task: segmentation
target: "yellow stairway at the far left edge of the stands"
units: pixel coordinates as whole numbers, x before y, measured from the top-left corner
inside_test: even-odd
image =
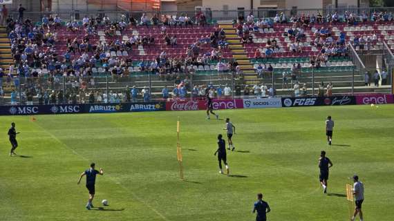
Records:
[[[11,64],[14,64],[14,59],[12,59],[10,39],[6,27],[0,26],[0,67],[8,73]]]

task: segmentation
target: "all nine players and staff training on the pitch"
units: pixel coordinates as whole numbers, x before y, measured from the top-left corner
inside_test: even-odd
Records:
[[[209,113],[212,113],[216,116],[216,119],[218,119],[218,115],[216,115],[213,112],[213,106],[212,106],[212,99],[210,99],[207,96],[207,118],[209,119]],[[232,142],[232,136],[235,134],[235,126],[232,124],[232,122],[229,121],[229,118],[226,118],[225,120],[226,126],[223,130],[227,131],[227,141],[228,141],[228,148],[227,150],[235,150],[235,146]],[[331,116],[327,117],[326,120],[326,136],[327,136],[327,142],[328,145],[332,144],[332,131],[334,128],[334,121],[331,119]],[[16,131],[15,128],[15,123],[12,122],[11,128],[8,130],[8,136],[10,139],[11,143],[11,150],[10,150],[10,156],[17,155],[15,153],[15,149],[18,146],[17,142],[17,134],[19,132]],[[219,173],[223,174],[223,167],[222,167],[222,161],[225,164],[225,168],[227,170],[227,175],[229,174],[229,165],[227,164],[227,153],[226,153],[226,144],[225,140],[223,140],[223,135],[219,134],[218,135],[218,148],[215,151],[214,155],[218,155],[218,164],[219,164]],[[326,157],[326,151],[321,151],[321,155],[319,157],[319,169],[320,169],[320,175],[319,175],[319,180],[320,184],[323,188],[323,193],[327,193],[327,186],[328,186],[328,174],[329,174],[329,169],[332,166],[331,160]],[[88,203],[86,204],[86,209],[91,209],[93,208],[93,198],[95,195],[95,179],[96,175],[103,175],[104,171],[103,169],[100,168],[100,171],[95,170],[95,164],[92,163],[90,169],[87,169],[84,171],[80,176],[77,184],[81,181],[82,177],[86,176],[86,189],[88,189],[89,192],[89,198],[88,198]],[[364,185],[362,182],[359,181],[359,177],[357,175],[353,176],[353,181],[354,181],[354,188],[353,188],[353,194],[355,195],[355,211],[353,213],[353,218],[351,218],[351,221],[355,220],[355,217],[357,214],[359,214],[359,218],[361,221],[363,221],[363,213],[362,213],[362,202],[364,201]],[[263,201],[263,194],[259,193],[257,195],[257,202],[254,203],[254,209],[253,213],[257,212],[256,214],[256,221],[265,221],[267,220],[266,213],[270,212],[270,206],[268,205],[267,202]]]

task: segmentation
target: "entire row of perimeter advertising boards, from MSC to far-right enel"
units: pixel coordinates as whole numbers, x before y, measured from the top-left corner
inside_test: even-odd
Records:
[[[296,106],[344,106],[362,104],[394,104],[394,95],[357,95],[335,97],[274,97],[261,99],[214,99],[213,108],[290,108]],[[0,115],[42,115],[76,113],[127,113],[144,111],[206,110],[205,100],[169,102],[136,102],[118,104],[48,104],[0,106]]]

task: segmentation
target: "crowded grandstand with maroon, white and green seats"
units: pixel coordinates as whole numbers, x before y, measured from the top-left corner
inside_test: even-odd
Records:
[[[3,104],[128,102],[131,88],[140,100],[163,99],[163,88],[168,98],[203,96],[207,86],[232,97],[392,91],[392,10],[167,12],[149,3],[70,13],[59,2],[54,12],[21,5],[3,15]]]

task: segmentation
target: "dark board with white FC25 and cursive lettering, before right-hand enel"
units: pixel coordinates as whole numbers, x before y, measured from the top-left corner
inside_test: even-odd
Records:
[[[354,96],[335,97],[282,97],[283,107],[292,106],[341,106],[355,105]]]

